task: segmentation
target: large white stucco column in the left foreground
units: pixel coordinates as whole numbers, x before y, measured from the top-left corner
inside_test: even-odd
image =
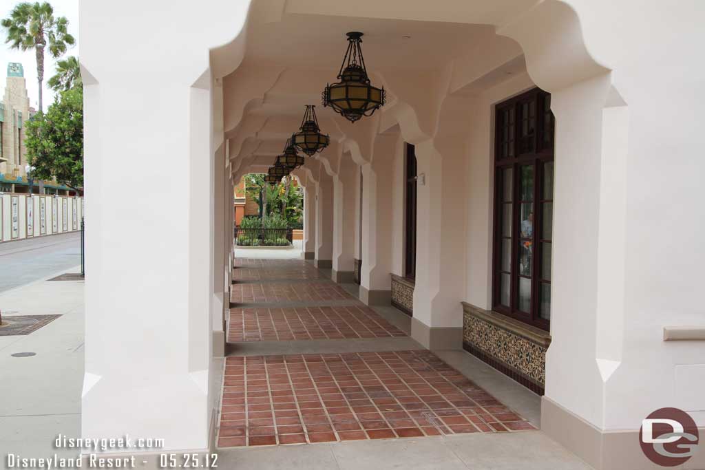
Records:
[[[208,48],[239,32],[247,5],[200,7],[80,4],[91,194],[81,433],[164,439],[161,452],[206,450],[214,416]],[[183,35],[193,24],[212,28]],[[126,156],[148,163],[125,178]]]

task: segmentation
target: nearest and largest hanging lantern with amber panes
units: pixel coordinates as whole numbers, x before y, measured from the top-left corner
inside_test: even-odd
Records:
[[[362,32],[348,32],[348,50],[345,51],[338,83],[326,85],[323,106],[331,106],[336,113],[355,122],[362,116],[372,116],[386,101],[384,88],[369,84],[367,69],[362,58]]]

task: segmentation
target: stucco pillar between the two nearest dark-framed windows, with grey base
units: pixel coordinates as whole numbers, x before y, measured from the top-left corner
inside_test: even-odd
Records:
[[[412,337],[429,349],[462,347],[465,290],[465,147],[416,145],[417,245]],[[443,146],[443,154],[437,147]]]

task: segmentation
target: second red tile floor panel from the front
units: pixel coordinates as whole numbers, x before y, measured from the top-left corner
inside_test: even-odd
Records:
[[[406,336],[368,307],[230,309],[228,342]]]

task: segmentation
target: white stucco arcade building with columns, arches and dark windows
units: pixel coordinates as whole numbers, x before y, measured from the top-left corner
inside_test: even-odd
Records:
[[[146,11],[157,30],[127,39],[136,3],[80,8],[87,204],[119,218],[86,241],[85,437],[211,445],[229,198],[319,103],[349,30],[387,103],[354,124],[319,113],[331,145],[295,171],[306,258],[404,307],[424,347],[540,394],[542,431],[598,469],[658,468],[636,444],[655,409],[705,426],[699,5],[210,0]],[[134,149],[154,164],[125,182]],[[188,188],[144,184],[164,168]],[[125,197],[175,204],[125,214]],[[168,237],[114,236],[133,221]],[[135,324],[160,334],[125,345]]]

